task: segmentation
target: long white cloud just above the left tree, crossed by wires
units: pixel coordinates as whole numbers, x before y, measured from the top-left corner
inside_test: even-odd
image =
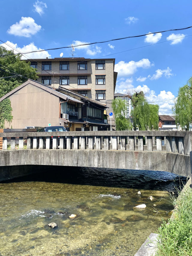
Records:
[[[8,46],[8,45],[10,46]],[[30,43],[28,45],[24,45],[22,48],[18,47],[17,44],[13,44],[10,41],[7,41],[6,44],[0,44],[1,46],[4,46],[7,50],[13,50],[14,53],[18,53],[19,52],[30,52],[30,51],[36,51],[36,50],[42,50],[41,48],[38,48],[37,46],[34,45],[34,43]],[[15,48],[15,49],[13,49]],[[21,59],[44,59],[44,58],[50,58],[51,55],[47,52],[47,51],[42,51],[42,52],[35,52],[35,53],[27,53],[27,56],[23,56],[21,57]]]

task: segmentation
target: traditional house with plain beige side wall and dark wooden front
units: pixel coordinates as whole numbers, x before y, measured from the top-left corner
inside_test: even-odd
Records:
[[[9,97],[12,122],[6,128],[65,126],[69,131],[108,130],[106,105],[64,88],[28,80],[0,98]]]

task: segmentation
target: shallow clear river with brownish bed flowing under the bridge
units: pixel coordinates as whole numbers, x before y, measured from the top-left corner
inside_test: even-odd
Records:
[[[53,167],[1,183],[0,255],[132,256],[170,217],[180,182],[167,172]]]

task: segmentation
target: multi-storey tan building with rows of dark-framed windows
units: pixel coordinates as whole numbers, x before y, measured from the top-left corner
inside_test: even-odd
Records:
[[[54,58],[26,61],[30,61],[31,66],[37,69],[38,82],[54,88],[62,86],[96,99],[106,104],[107,115],[112,111],[111,102],[117,79],[115,59]]]

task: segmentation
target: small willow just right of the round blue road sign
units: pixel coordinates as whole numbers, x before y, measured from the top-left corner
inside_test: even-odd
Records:
[[[112,101],[112,108],[115,115],[116,130],[125,131],[131,130],[132,124],[129,119],[125,118],[127,111],[127,101],[117,97]]]

